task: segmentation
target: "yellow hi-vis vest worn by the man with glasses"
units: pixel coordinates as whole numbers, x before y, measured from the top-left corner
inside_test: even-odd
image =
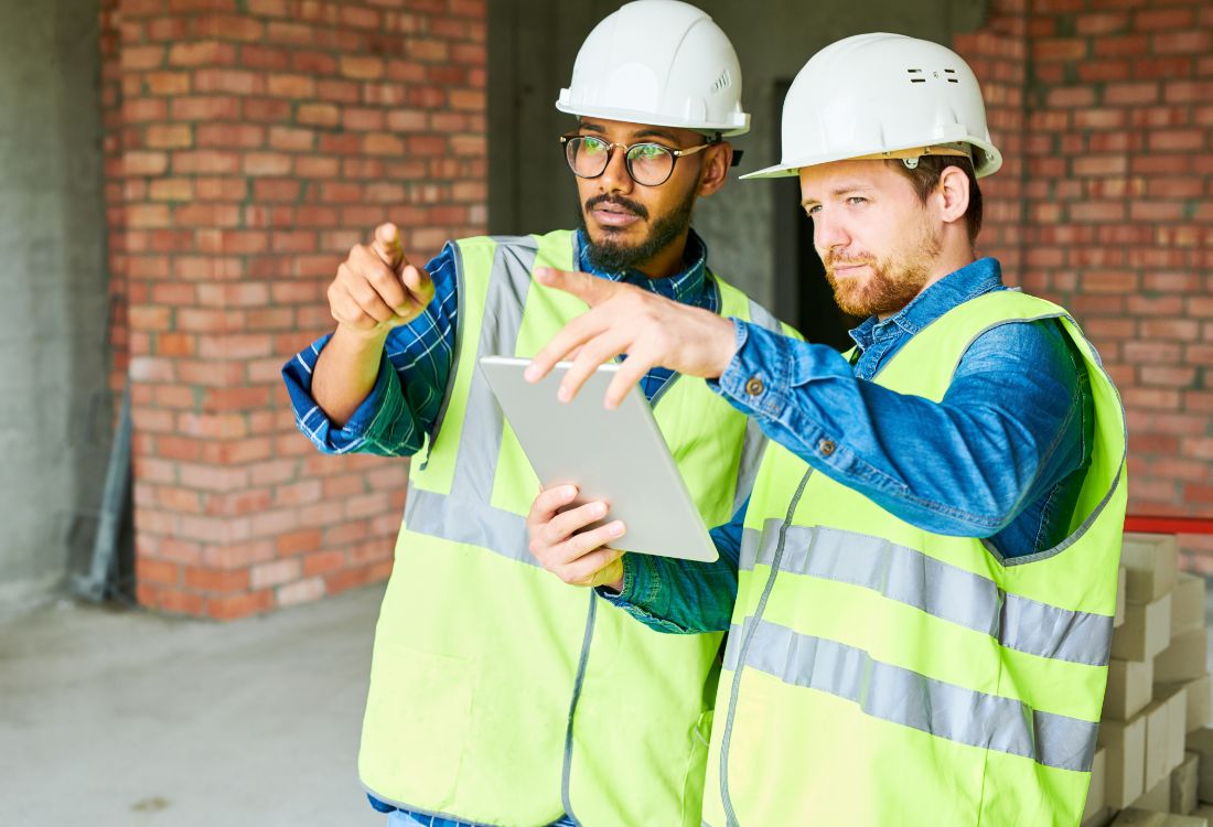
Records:
[[[588,827],[699,827],[722,635],[650,631],[537,565],[524,518],[539,480],[478,370],[482,355],[534,355],[585,313],[531,276],[575,269],[573,234],[468,239],[456,262],[455,367],[428,457],[410,469],[363,785],[474,823],[539,827],[568,812]],[[714,285],[722,315],[776,325]],[[761,430],[693,377],[654,405],[704,520],[728,521],[751,489]]]

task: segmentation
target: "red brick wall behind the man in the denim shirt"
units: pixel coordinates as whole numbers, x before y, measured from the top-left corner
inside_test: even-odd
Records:
[[[996,99],[1018,32],[1023,212],[990,229],[1019,234],[1019,281],[1077,315],[1120,386],[1129,512],[1213,517],[1213,6],[998,2],[956,44]],[[1180,540],[1213,574],[1213,537]]]

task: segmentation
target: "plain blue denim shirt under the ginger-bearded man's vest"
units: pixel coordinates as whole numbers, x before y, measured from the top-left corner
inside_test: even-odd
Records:
[[[1043,551],[1065,536],[1094,433],[1089,380],[1058,323],[1008,323],[979,336],[939,403],[871,381],[949,309],[1004,289],[998,262],[979,259],[853,330],[854,364],[734,320],[738,352],[708,384],[818,472],[912,525],[989,537],[1004,558]],[[750,395],[754,377],[765,389]],[[826,439],[828,455],[818,447]],[[746,506],[712,530],[716,563],[627,554],[622,592],[603,595],[665,632],[728,629]]]

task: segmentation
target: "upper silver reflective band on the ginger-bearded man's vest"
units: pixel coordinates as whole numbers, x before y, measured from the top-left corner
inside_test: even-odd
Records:
[[[754,529],[745,530],[744,570],[756,561],[771,564],[781,525],[767,520],[761,538]],[[991,580],[881,537],[793,525],[779,569],[872,589],[1029,655],[1106,666],[1111,652],[1111,617],[1008,594]]]

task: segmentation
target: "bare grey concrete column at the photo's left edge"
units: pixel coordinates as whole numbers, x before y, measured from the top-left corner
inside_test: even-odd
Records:
[[[110,439],[97,2],[0,0],[0,608],[89,547]]]

